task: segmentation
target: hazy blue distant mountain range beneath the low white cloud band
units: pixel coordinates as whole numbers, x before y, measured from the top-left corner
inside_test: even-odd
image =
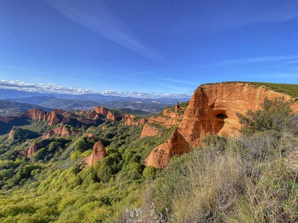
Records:
[[[46,94],[11,89],[0,89],[0,99],[15,103],[25,103],[24,108],[28,104],[30,106],[35,105],[49,109],[57,108],[63,110],[88,110],[96,106],[104,106],[109,109],[142,110],[149,113],[162,111],[164,107],[175,105],[177,102],[189,101],[189,98],[144,99],[101,94]],[[22,106],[18,105],[16,108],[20,107]],[[19,112],[23,111],[23,109],[20,109]]]

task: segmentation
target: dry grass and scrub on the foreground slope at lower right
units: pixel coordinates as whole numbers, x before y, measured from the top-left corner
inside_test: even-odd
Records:
[[[138,216],[122,222],[297,222],[297,173],[282,156],[294,146],[285,143],[289,137],[215,138],[221,142],[172,159],[146,190]]]

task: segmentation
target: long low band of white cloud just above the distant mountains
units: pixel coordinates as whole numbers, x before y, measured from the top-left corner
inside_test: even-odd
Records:
[[[29,92],[39,93],[59,93],[59,94],[101,94],[106,96],[121,96],[121,97],[134,97],[134,98],[191,98],[191,94],[162,94],[162,93],[141,93],[141,92],[119,92],[116,90],[102,90],[93,91],[89,89],[81,89],[74,87],[65,87],[56,84],[34,84],[24,81],[6,81],[0,80],[0,88],[2,89],[15,89]]]

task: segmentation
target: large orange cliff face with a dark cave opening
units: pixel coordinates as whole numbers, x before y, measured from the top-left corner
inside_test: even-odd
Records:
[[[260,109],[265,98],[291,97],[249,84],[202,85],[196,89],[184,112],[179,132],[187,142],[196,145],[205,134],[239,134],[241,126],[236,112]],[[297,103],[296,103],[297,104]],[[293,109],[296,110],[297,105]]]

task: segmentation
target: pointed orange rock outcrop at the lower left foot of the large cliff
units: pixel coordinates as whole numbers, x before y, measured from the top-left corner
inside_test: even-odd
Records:
[[[150,155],[145,159],[146,166],[153,166],[157,168],[165,168],[174,155],[182,155],[190,152],[190,147],[183,136],[174,130],[170,138],[160,145],[158,145]]]

